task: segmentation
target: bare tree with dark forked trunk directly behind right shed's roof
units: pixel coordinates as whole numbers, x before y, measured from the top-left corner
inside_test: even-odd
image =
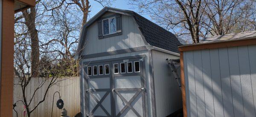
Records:
[[[149,14],[160,26],[178,29],[177,36],[190,34],[199,43],[200,23],[204,9],[201,0],[131,0],[141,13]]]

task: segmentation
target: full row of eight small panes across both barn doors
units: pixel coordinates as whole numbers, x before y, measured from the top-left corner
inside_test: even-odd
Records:
[[[114,74],[118,74],[119,73],[119,64],[114,63],[113,68],[114,68]],[[127,68],[127,73],[132,73],[133,72],[132,62],[127,62],[126,67],[125,67],[125,63],[120,63],[120,73],[121,74],[126,72],[125,71],[126,68]],[[99,71],[99,75],[103,75],[103,65],[93,66],[93,69],[92,69],[92,66],[88,66],[87,67],[87,75],[91,76],[92,71],[93,71],[93,75],[98,75],[98,71]],[[105,71],[105,75],[109,74],[109,65],[108,64],[104,65],[104,71]],[[134,72],[140,72],[140,61],[134,62]]]

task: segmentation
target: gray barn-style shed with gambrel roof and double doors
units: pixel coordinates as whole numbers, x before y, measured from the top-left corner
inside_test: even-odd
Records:
[[[78,46],[83,116],[166,117],[182,108],[166,63],[179,58],[178,45],[174,34],[134,11],[99,11]]]

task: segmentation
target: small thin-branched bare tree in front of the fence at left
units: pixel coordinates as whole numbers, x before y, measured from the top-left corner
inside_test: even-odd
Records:
[[[55,85],[58,82],[58,78],[62,77],[67,70],[63,66],[65,64],[58,64],[61,62],[59,55],[56,54],[41,54],[41,60],[38,62],[38,68],[34,71],[40,71],[40,77],[35,77],[29,73],[31,66],[31,53],[32,50],[29,49],[30,40],[27,40],[28,35],[16,35],[15,36],[15,59],[14,59],[14,71],[15,77],[18,79],[18,83],[14,85],[19,85],[22,91],[22,101],[23,105],[26,108],[26,113],[28,117],[30,114],[46,99],[49,88]],[[33,78],[40,79],[38,80],[38,85],[35,87],[35,90],[32,91],[32,94],[26,94],[26,91],[29,90],[28,87],[31,84]],[[46,82],[48,82],[46,84]],[[34,85],[34,84],[33,84]],[[35,105],[31,105],[35,94],[39,91],[42,86],[46,86],[46,90],[43,92],[43,97],[37,99],[38,102]],[[16,103],[16,102],[15,102]]]

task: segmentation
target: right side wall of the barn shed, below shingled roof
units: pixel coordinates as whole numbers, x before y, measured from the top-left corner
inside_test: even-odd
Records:
[[[181,90],[166,58],[177,59],[179,57],[152,51],[157,117],[166,117],[182,108]]]

